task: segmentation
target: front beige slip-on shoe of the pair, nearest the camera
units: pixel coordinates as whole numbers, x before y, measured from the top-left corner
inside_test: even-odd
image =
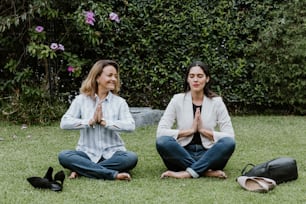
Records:
[[[239,176],[237,178],[239,185],[247,191],[266,193],[269,191],[269,187],[265,182],[254,179],[248,176]]]

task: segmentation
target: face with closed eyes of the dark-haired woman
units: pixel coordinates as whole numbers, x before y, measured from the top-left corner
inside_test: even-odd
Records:
[[[203,89],[208,81],[209,77],[206,76],[204,70],[200,66],[190,68],[187,82],[192,92],[203,92]]]

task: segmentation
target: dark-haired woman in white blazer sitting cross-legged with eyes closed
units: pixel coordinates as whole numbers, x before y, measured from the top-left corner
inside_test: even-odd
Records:
[[[210,77],[207,65],[193,62],[185,93],[173,96],[159,121],[156,149],[168,168],[161,178],[227,178],[235,135],[222,98],[209,89]]]

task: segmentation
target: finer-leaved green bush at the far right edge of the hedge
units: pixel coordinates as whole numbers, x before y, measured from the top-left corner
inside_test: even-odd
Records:
[[[290,1],[272,12],[252,45],[253,76],[265,89],[267,104],[306,113],[306,2]]]

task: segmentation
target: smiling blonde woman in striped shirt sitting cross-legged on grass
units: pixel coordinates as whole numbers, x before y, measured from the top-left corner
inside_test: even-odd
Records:
[[[126,101],[119,97],[119,66],[99,60],[91,68],[60,123],[62,129],[80,130],[76,150],[59,153],[60,164],[78,175],[96,179],[131,180],[128,173],[138,161],[127,151],[119,132],[135,130]]]

